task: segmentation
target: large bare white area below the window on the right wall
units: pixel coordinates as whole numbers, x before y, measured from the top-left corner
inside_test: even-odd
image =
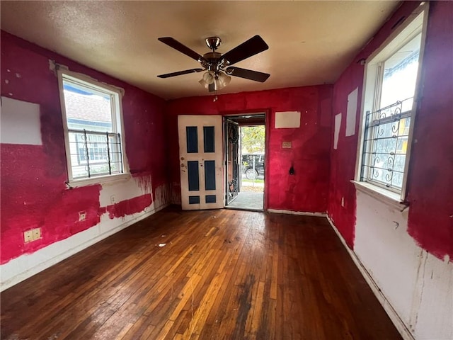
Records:
[[[414,339],[453,339],[452,263],[415,243],[409,209],[357,191],[355,254]]]

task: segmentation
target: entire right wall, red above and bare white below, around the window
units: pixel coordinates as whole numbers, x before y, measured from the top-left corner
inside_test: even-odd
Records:
[[[347,112],[358,88],[361,103],[366,60],[420,1],[404,1],[340,76],[333,115]],[[453,339],[453,3],[430,1],[408,172],[408,208],[399,211],[356,191],[358,124],[340,125],[331,149],[328,217],[404,339]],[[401,209],[400,209],[401,210]]]

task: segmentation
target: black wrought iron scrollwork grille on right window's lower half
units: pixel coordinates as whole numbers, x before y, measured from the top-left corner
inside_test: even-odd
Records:
[[[360,180],[400,192],[403,185],[413,97],[365,115]]]

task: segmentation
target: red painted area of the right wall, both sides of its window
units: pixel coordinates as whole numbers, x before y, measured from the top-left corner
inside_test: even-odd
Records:
[[[418,1],[404,2],[365,46],[333,87],[333,115],[343,113],[338,149],[331,153],[328,215],[348,246],[354,246],[357,133],[345,137],[348,94],[357,86],[361,103],[366,59],[391,34],[401,17],[408,16]],[[408,174],[408,232],[416,242],[437,257],[453,259],[453,3],[430,2],[428,32],[423,59],[420,107],[415,119],[413,149]],[[360,108],[357,108],[356,132]],[[333,133],[333,132],[332,132]],[[341,206],[344,197],[345,207]]]

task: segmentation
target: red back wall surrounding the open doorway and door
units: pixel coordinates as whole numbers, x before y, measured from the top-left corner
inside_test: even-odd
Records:
[[[269,114],[265,195],[268,208],[325,212],[328,197],[331,140],[331,86],[245,92],[169,101],[166,108],[168,136],[178,135],[178,115],[219,115],[247,112]],[[300,111],[301,127],[275,129],[275,112]],[[282,142],[292,149],[282,149]],[[179,147],[176,137],[168,140],[173,199],[180,195]],[[294,166],[294,176],[289,168]]]

